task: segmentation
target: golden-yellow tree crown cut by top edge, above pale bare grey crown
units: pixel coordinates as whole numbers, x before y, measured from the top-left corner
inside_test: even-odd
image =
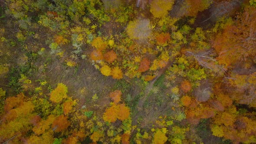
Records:
[[[172,9],[174,0],[153,0],[150,5],[150,12],[154,17],[160,18],[168,14]]]

